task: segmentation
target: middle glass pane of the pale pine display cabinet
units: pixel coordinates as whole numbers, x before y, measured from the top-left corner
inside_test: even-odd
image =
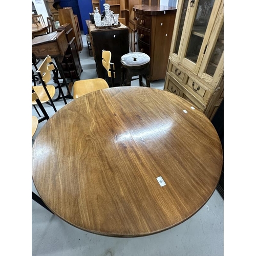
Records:
[[[187,1],[186,1],[187,2]],[[185,58],[197,62],[215,0],[199,0]]]

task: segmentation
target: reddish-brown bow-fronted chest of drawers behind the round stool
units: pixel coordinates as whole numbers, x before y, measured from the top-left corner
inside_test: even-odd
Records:
[[[151,81],[165,78],[176,10],[176,7],[168,6],[133,7],[135,51],[150,56]]]

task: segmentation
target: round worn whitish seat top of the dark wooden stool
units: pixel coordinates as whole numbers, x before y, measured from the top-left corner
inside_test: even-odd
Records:
[[[121,57],[121,63],[124,68],[140,69],[150,64],[150,56],[143,52],[131,52]]]

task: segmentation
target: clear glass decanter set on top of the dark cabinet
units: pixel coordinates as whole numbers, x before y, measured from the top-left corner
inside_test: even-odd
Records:
[[[98,7],[95,7],[94,10],[94,22],[97,27],[105,27],[105,26],[113,26],[118,25],[118,17],[119,13],[115,14],[110,10],[109,4],[103,4],[105,8],[105,16],[103,20],[101,20],[101,14],[99,13]]]

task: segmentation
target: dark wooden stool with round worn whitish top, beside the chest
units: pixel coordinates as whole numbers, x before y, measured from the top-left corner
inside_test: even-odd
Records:
[[[133,76],[139,75],[140,86],[150,87],[150,56],[143,52],[132,52],[121,57],[122,71],[120,85],[124,86],[126,75],[126,86],[131,86]],[[146,85],[142,81],[142,75],[146,76]]]

